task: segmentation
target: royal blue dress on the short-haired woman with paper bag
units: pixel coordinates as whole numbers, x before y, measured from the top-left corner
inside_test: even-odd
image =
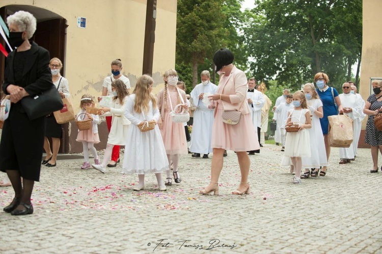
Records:
[[[334,97],[337,97],[338,92],[335,88],[328,87],[328,89],[326,89],[326,91],[324,92],[321,92],[318,88],[316,89],[316,92],[322,101],[323,117],[320,118],[320,123],[321,123],[322,134],[324,135],[328,134],[328,130],[329,130],[328,116],[333,116],[338,114],[337,108],[334,104],[332,89],[333,89]]]

